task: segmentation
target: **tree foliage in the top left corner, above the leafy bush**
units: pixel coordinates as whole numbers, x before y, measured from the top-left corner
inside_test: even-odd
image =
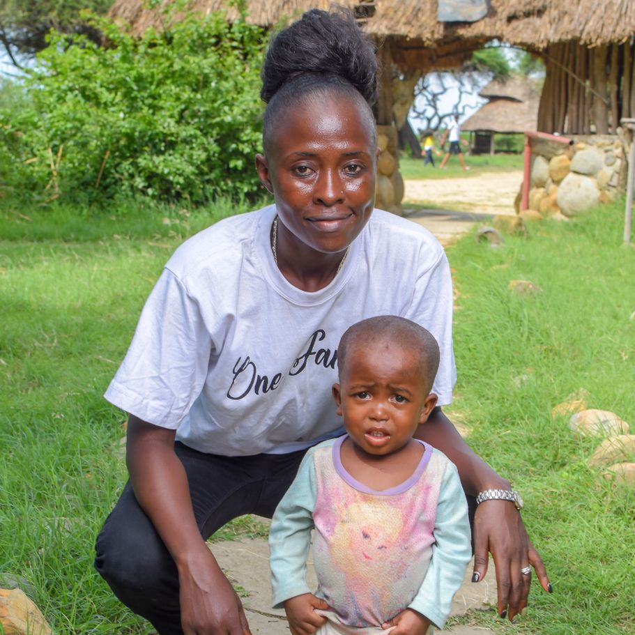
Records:
[[[113,0],[0,0],[0,43],[12,63],[20,68],[20,58],[32,57],[47,47],[51,29],[85,35],[97,42],[99,32],[82,11],[105,13]]]

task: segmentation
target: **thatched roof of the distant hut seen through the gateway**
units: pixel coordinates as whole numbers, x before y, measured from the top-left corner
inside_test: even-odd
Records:
[[[530,79],[512,77],[507,82],[489,82],[480,91],[489,102],[461,123],[461,130],[525,132],[537,130],[540,86]]]

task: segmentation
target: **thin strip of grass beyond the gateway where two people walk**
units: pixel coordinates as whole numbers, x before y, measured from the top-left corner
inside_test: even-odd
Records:
[[[441,157],[435,157],[436,167],[423,165],[423,158],[413,159],[408,156],[399,158],[399,169],[401,176],[413,179],[429,178],[452,178],[479,176],[484,172],[510,171],[523,169],[523,155],[521,154],[495,154],[495,155],[465,155],[465,160],[470,171],[465,172],[457,157],[451,157],[447,162],[446,169],[439,169]]]

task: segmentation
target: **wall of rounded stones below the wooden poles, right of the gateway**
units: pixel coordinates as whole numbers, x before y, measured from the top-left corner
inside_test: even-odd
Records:
[[[542,216],[571,217],[615,198],[626,187],[627,162],[614,135],[575,135],[567,146],[531,140],[529,208]],[[521,198],[517,197],[517,213]]]

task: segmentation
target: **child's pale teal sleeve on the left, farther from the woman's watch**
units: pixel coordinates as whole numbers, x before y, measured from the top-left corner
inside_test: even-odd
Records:
[[[313,452],[309,450],[271,520],[269,563],[275,609],[290,597],[312,592],[307,585],[307,557],[316,491]]]

